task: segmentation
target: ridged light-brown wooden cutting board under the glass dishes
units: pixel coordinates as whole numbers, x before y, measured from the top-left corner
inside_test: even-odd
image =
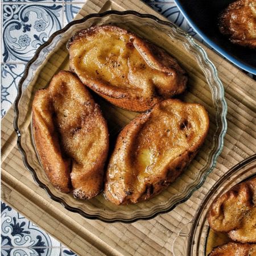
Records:
[[[165,19],[139,0],[89,0],[76,19],[106,10],[135,10]],[[2,119],[2,200],[82,256],[172,255],[172,243],[177,232],[192,220],[201,200],[218,177],[256,152],[256,82],[212,50],[202,47],[216,65],[224,84],[228,131],[216,168],[188,201],[170,213],[133,224],[106,224],[69,212],[51,200],[24,167],[16,146],[13,107]]]

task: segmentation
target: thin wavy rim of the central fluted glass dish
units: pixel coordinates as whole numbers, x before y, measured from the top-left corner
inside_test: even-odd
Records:
[[[214,153],[213,160],[212,160],[212,163],[210,164],[210,167],[209,167],[208,171],[204,173],[204,175],[201,177],[201,179],[200,179],[199,183],[196,185],[196,187],[191,189],[191,191],[189,191],[189,193],[183,199],[177,201],[170,208],[167,208],[167,209],[164,209],[164,210],[159,210],[158,212],[155,212],[155,213],[151,214],[150,216],[134,217],[134,218],[131,218],[129,220],[126,220],[124,218],[122,218],[122,219],[121,218],[113,218],[113,219],[110,220],[110,219],[106,219],[106,218],[100,216],[100,214],[87,214],[87,213],[83,212],[80,209],[71,207],[70,205],[65,203],[65,201],[63,201],[59,197],[56,197],[55,195],[53,195],[52,192],[47,187],[47,185],[43,184],[42,181],[40,181],[38,179],[38,176],[36,175],[35,170],[30,166],[30,164],[28,164],[26,152],[24,151],[24,149],[22,147],[22,143],[20,141],[22,135],[20,134],[19,127],[18,127],[18,119],[19,119],[18,104],[19,104],[19,100],[20,100],[20,98],[22,96],[22,84],[23,84],[24,80],[28,76],[28,70],[30,69],[30,66],[32,65],[32,63],[34,63],[38,59],[40,51],[42,51],[43,48],[49,46],[49,44],[51,44],[51,42],[53,41],[53,39],[56,36],[62,34],[65,31],[67,31],[69,29],[69,27],[71,27],[71,26],[73,26],[75,24],[79,24],[79,23],[85,22],[85,20],[90,19],[90,18],[102,18],[104,16],[108,16],[108,15],[111,15],[111,14],[122,15],[122,16],[124,16],[124,15],[135,15],[135,16],[138,16],[139,18],[150,18],[150,19],[155,20],[157,23],[160,23],[160,24],[172,27],[172,28],[175,27],[177,30],[179,30],[179,32],[181,32],[183,35],[185,35],[185,37],[188,40],[190,40],[190,43],[192,43],[193,46],[195,46],[197,49],[199,49],[199,51],[204,56],[204,59],[207,60],[207,63],[209,64],[210,68],[213,69],[214,78],[216,79],[216,82],[217,82],[217,85],[218,85],[218,89],[220,89],[220,97],[221,97],[220,100],[221,100],[221,106],[222,106],[222,113],[221,113],[222,130],[220,131],[218,148],[217,148],[216,152]],[[101,221],[104,221],[104,222],[125,222],[125,223],[131,223],[131,222],[138,221],[138,220],[150,220],[151,218],[154,218],[158,214],[163,214],[163,213],[170,212],[177,205],[187,201],[189,199],[189,197],[191,197],[192,193],[195,192],[197,189],[199,189],[201,187],[201,185],[203,185],[206,177],[213,170],[213,168],[214,168],[214,166],[215,166],[215,164],[217,162],[217,157],[218,157],[218,155],[220,155],[220,153],[222,151],[223,144],[224,144],[224,137],[225,137],[226,129],[227,129],[227,123],[226,123],[227,105],[226,105],[226,101],[225,101],[225,98],[224,98],[224,87],[223,87],[220,79],[218,79],[216,67],[214,66],[212,61],[210,61],[208,59],[208,56],[207,56],[207,53],[205,52],[205,50],[202,47],[200,47],[197,43],[195,43],[195,40],[193,40],[193,38],[191,36],[189,36],[184,31],[180,30],[180,28],[177,28],[175,26],[175,24],[172,24],[171,22],[167,22],[167,21],[161,20],[161,19],[157,18],[154,15],[137,13],[137,11],[113,11],[112,10],[112,11],[106,11],[106,12],[101,13],[101,14],[89,14],[89,15],[86,15],[84,18],[80,19],[80,20],[72,21],[71,23],[67,24],[67,26],[62,28],[61,30],[56,31],[55,33],[53,33],[50,36],[50,38],[47,40],[47,42],[42,44],[42,46],[40,46],[37,49],[34,57],[26,65],[26,68],[25,68],[24,74],[22,76],[22,79],[20,79],[19,84],[18,84],[18,94],[17,94],[15,102],[14,102],[14,113],[15,113],[15,116],[14,116],[14,123],[13,124],[14,124],[14,130],[16,131],[16,134],[18,136],[17,145],[18,145],[19,151],[22,154],[23,163],[26,166],[26,168],[31,172],[35,182],[48,193],[49,197],[51,197],[52,200],[55,200],[58,203],[62,204],[65,209],[67,209],[67,210],[69,210],[71,212],[80,213],[83,217],[86,217],[86,218],[89,218],[89,219],[93,219],[93,220],[101,220]]]

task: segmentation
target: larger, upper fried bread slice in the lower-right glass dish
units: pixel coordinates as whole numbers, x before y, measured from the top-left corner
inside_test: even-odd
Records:
[[[256,242],[256,177],[240,183],[210,207],[210,228],[228,232],[232,240]]]

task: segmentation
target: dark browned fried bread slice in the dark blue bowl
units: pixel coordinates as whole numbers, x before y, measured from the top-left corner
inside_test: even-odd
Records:
[[[256,49],[256,1],[231,3],[219,17],[219,28],[232,43]]]

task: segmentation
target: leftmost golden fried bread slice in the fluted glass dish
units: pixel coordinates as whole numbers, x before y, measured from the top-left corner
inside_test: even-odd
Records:
[[[61,192],[90,199],[102,189],[108,129],[99,106],[71,72],[55,75],[32,104],[36,150]]]

